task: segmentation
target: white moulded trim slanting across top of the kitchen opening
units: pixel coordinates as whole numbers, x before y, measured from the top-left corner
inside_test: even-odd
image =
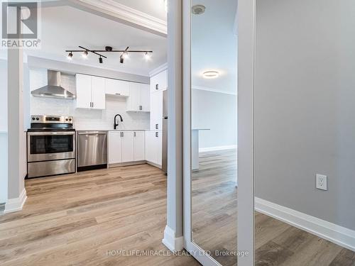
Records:
[[[122,21],[127,21],[143,28],[148,28],[151,31],[155,31],[163,35],[167,35],[168,32],[167,21],[148,15],[147,13],[136,9],[132,9],[129,6],[124,6],[123,4],[119,4],[113,0],[78,0],[75,1],[75,3],[79,3],[83,6],[90,6],[94,9],[100,9],[100,11],[109,16],[114,16]]]

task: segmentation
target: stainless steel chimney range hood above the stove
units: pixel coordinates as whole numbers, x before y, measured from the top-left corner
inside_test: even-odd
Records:
[[[48,85],[40,87],[31,92],[35,97],[57,98],[57,99],[75,99],[75,95],[60,86],[60,72],[48,70]]]

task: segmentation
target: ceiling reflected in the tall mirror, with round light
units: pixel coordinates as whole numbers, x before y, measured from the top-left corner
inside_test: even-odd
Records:
[[[192,87],[236,93],[236,1],[193,0],[195,4],[206,10],[192,14]],[[217,70],[219,77],[204,79],[202,73],[208,70]]]

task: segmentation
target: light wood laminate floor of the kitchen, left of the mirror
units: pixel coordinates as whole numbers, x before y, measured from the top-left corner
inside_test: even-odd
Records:
[[[0,265],[200,265],[164,250],[166,176],[151,165],[26,180],[23,211],[0,215]],[[114,254],[114,253],[111,253]]]

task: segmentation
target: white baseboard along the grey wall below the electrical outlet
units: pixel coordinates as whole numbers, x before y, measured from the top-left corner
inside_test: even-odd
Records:
[[[289,223],[291,226],[329,240],[343,248],[355,251],[354,230],[329,223],[320,218],[303,214],[300,211],[295,211],[257,197],[255,198],[255,209],[263,214]]]

